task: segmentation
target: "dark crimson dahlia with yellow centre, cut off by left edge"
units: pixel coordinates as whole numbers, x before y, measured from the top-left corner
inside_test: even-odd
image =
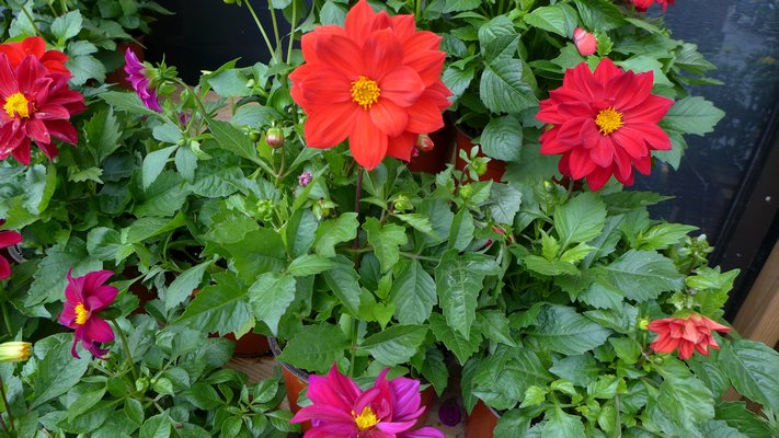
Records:
[[[30,55],[15,68],[0,54],[0,160],[13,155],[30,164],[30,140],[49,158],[59,150],[51,139],[78,142],[71,116],[87,110],[81,94],[68,89],[70,76],[49,73]]]

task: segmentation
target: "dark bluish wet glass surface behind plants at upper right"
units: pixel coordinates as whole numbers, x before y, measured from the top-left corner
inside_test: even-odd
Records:
[[[718,67],[709,76],[724,85],[696,87],[691,94],[726,116],[714,132],[686,137],[678,171],[656,169],[637,177],[634,188],[676,196],[654,207],[654,217],[698,226],[714,242],[779,102],[779,0],[678,0],[665,22],[674,38],[697,44]]]

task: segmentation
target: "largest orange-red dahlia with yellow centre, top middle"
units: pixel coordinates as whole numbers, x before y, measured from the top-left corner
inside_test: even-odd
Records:
[[[446,54],[439,36],[416,31],[413,15],[376,13],[360,0],[344,27],[319,26],[301,45],[306,64],[289,79],[308,115],[309,147],[348,137],[355,161],[371,170],[387,154],[409,161],[419,135],[444,126]]]

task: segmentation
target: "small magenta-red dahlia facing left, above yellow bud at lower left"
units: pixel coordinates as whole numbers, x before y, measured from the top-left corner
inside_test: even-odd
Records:
[[[114,341],[114,331],[98,313],[111,306],[119,292],[105,281],[114,273],[111,270],[95,270],[83,277],[71,277],[72,269],[68,272],[68,286],[65,288],[65,308],[59,315],[59,323],[73,328],[73,347],[70,353],[80,359],[76,353],[76,345],[81,341],[92,356],[102,359],[108,349],[99,348],[95,343],[110,343]]]

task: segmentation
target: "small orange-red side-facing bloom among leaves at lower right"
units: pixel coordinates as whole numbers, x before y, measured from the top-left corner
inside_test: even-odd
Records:
[[[719,349],[711,331],[730,332],[731,327],[718,324],[698,313],[685,318],[666,318],[652,321],[649,330],[660,334],[650,345],[656,353],[672,353],[679,350],[679,359],[689,359],[694,351],[709,356],[709,347]]]

